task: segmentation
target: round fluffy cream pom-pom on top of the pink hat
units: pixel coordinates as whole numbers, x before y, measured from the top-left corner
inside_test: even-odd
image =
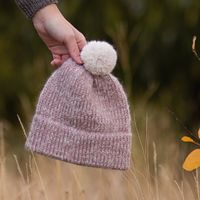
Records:
[[[117,62],[117,53],[112,45],[104,41],[90,41],[81,51],[86,70],[95,75],[112,72]]]

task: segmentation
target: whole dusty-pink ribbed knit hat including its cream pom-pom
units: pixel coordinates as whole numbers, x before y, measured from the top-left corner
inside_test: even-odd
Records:
[[[84,65],[68,59],[46,82],[25,147],[69,163],[128,169],[131,117],[125,92],[113,75],[113,47],[91,41]]]

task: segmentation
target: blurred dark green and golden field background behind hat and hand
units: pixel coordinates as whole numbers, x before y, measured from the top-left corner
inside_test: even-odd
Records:
[[[199,200],[199,171],[182,162],[200,127],[199,0],[60,0],[87,38],[119,54],[114,74],[128,94],[133,161],[125,172],[66,164],[24,150],[51,55],[14,1],[0,6],[0,200]],[[199,39],[199,40],[198,40]],[[19,117],[17,117],[17,115]],[[20,120],[19,120],[20,119]]]

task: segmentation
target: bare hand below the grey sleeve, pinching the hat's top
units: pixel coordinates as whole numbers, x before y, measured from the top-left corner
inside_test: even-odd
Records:
[[[80,51],[87,43],[86,39],[63,17],[55,4],[40,9],[32,20],[38,35],[52,53],[52,65],[59,67],[70,57],[82,64]]]

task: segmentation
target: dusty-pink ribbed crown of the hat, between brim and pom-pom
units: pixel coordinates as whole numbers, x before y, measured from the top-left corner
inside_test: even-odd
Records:
[[[47,102],[49,96],[56,100]],[[127,99],[117,79],[94,76],[71,59],[49,79],[36,112],[84,131],[130,131]]]

